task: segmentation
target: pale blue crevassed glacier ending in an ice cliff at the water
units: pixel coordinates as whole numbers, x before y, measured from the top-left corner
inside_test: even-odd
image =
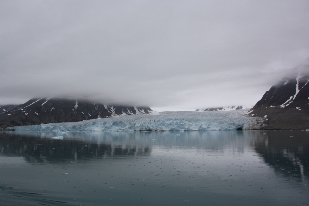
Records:
[[[18,131],[205,131],[259,129],[260,118],[248,109],[224,112],[164,111],[157,115],[128,115],[81,122],[13,127]]]

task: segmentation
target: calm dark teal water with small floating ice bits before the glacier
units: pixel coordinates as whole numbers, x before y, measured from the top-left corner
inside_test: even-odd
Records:
[[[308,161],[306,131],[0,132],[0,205],[305,206]]]

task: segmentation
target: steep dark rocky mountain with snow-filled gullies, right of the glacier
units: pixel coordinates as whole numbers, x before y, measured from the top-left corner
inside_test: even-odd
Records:
[[[302,69],[272,86],[249,110],[264,118],[262,129],[309,129],[309,62]]]

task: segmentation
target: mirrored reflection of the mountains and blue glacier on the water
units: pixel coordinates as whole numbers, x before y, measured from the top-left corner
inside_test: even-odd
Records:
[[[205,154],[254,149],[279,174],[309,176],[305,131],[2,132],[0,138],[0,155],[20,156],[31,163],[150,155],[154,147],[193,148]]]

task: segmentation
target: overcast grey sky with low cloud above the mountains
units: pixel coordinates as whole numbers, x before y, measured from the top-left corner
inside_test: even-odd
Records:
[[[309,57],[309,1],[0,1],[0,104],[254,105]]]

